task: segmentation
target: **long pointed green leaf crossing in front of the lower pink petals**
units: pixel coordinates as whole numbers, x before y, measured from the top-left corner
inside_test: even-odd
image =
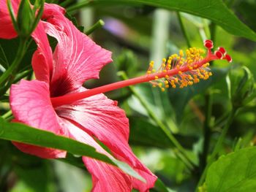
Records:
[[[20,123],[7,123],[0,118],[0,139],[7,139],[15,142],[22,142],[30,145],[41,147],[50,147],[60,150],[67,150],[75,155],[84,155],[104,161],[108,164],[118,166],[127,174],[138,180],[145,181],[143,177],[135,172],[128,164],[118,161],[115,158],[97,153],[94,147],[86,145],[82,142],[69,139],[67,137],[57,136],[49,131],[42,131],[38,128],[31,128]]]

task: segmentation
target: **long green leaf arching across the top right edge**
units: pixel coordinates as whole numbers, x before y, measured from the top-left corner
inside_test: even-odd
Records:
[[[230,34],[246,37],[256,41],[256,34],[248,26],[239,20],[233,12],[230,11],[222,0],[94,0],[81,1],[78,4],[69,7],[67,10],[72,11],[83,6],[89,5],[113,6],[117,4],[146,4],[153,7],[175,10],[178,12],[187,12],[202,18],[208,18],[214,23],[224,28]]]

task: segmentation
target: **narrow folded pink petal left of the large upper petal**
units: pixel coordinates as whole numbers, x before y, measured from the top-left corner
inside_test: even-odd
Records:
[[[37,80],[50,82],[50,75],[53,71],[53,54],[50,48],[45,28],[39,21],[37,28],[34,30],[32,37],[37,43],[37,51],[32,58],[32,66]]]

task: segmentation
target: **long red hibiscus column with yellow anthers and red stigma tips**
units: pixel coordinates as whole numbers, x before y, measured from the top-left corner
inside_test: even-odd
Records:
[[[214,53],[211,53],[211,49],[214,47],[211,40],[206,40],[204,46],[207,48],[207,55],[205,58],[201,56],[204,53],[203,50],[195,47],[186,50],[184,55],[183,51],[179,52],[179,55],[173,54],[169,58],[163,58],[162,64],[159,69],[154,69],[154,61],[151,61],[148,67],[148,71],[145,75],[135,77],[129,80],[120,82],[114,82],[109,85],[103,85],[98,88],[92,88],[80,93],[71,93],[64,96],[58,96],[51,98],[53,107],[58,107],[64,104],[72,104],[80,99],[85,99],[89,96],[94,96],[99,93],[105,93],[113,91],[118,88],[124,88],[129,85],[135,85],[142,82],[150,82],[153,87],[159,87],[162,91],[165,88],[184,88],[188,85],[193,85],[201,80],[207,80],[212,73],[208,68],[210,61],[225,59],[228,62],[232,61],[230,55],[226,53],[223,47],[218,47]]]

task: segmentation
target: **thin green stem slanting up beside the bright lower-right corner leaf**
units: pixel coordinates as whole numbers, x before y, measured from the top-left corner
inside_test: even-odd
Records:
[[[223,143],[223,141],[224,141],[224,139],[225,139],[225,137],[227,135],[228,128],[230,128],[230,124],[232,123],[233,118],[236,115],[236,111],[237,111],[237,109],[235,109],[235,108],[233,108],[231,110],[230,115],[227,118],[227,123],[226,123],[225,127],[222,130],[222,133],[221,133],[221,135],[220,135],[220,137],[219,137],[219,139],[217,141],[217,144],[214,147],[214,151],[213,151],[213,153],[211,153],[211,156],[209,158],[208,164],[207,164],[206,168],[203,170],[203,174],[201,175],[200,180],[199,180],[199,182],[197,184],[197,189],[198,189],[198,187],[203,185],[203,182],[206,179],[206,173],[208,171],[208,168],[215,161],[215,157],[219,153],[220,147],[222,147],[222,143]]]

